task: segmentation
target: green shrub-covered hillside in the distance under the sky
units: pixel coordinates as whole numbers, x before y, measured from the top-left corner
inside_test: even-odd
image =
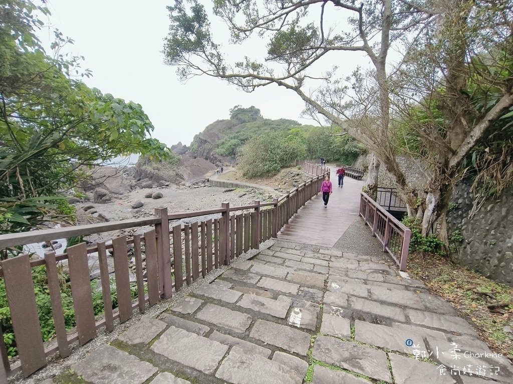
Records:
[[[338,127],[265,119],[254,106],[234,106],[230,119],[218,120],[196,135],[196,156],[213,163],[239,163],[246,177],[275,175],[299,159],[352,163],[365,148]]]

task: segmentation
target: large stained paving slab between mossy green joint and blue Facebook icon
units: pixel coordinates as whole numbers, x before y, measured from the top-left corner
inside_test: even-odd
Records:
[[[392,382],[385,352],[370,347],[321,335],[315,339],[312,357],[374,379]]]

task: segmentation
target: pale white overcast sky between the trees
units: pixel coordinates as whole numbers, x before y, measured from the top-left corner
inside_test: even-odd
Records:
[[[155,127],[152,136],[167,145],[179,141],[189,145],[193,136],[208,124],[229,118],[229,109],[238,104],[244,108],[254,105],[265,118],[315,124],[300,118],[304,109],[300,97],[278,86],[247,94],[207,76],[180,83],[176,69],[164,64],[161,53],[169,28],[166,6],[171,4],[172,0],[47,0],[52,15],[43,20],[50,27],[39,35],[48,44],[53,41],[54,28],[71,37],[75,42],[68,50],[84,56],[82,68],[93,73],[84,82],[103,93],[140,103]],[[210,11],[211,3],[205,0],[204,4]],[[316,18],[319,20],[319,16]],[[214,41],[227,46],[227,33],[212,24]],[[219,35],[225,41],[216,37]],[[265,55],[266,41],[254,39],[244,50],[248,52],[241,52],[241,48],[234,52],[240,54],[240,59],[244,55],[255,57],[260,52]],[[367,66],[368,60],[362,60],[361,54],[343,54],[345,59],[339,65],[347,66],[346,74],[357,63]]]

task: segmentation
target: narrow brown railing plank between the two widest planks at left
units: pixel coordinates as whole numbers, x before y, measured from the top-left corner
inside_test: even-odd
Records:
[[[50,304],[52,306],[53,325],[57,338],[59,355],[62,358],[69,356],[68,335],[64,323],[63,302],[61,298],[61,286],[57,275],[57,262],[55,252],[45,253],[46,276],[48,279],[48,290],[50,292]]]

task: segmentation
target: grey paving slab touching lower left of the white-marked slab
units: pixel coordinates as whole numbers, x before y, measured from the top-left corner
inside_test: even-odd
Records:
[[[249,336],[303,356],[306,356],[310,347],[310,335],[308,333],[262,319],[257,320]]]

